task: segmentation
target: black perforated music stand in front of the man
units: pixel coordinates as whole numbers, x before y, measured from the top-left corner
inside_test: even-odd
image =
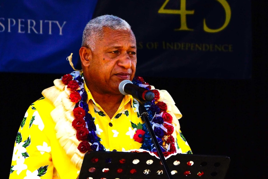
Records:
[[[137,161],[139,161],[137,163]],[[173,179],[224,179],[227,156],[177,154],[166,159]],[[88,152],[79,179],[167,179],[161,160],[147,152]]]

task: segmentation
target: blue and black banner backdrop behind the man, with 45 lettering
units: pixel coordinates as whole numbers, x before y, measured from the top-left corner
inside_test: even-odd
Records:
[[[69,73],[85,24],[119,16],[137,40],[137,75],[251,78],[250,0],[0,2],[0,71]]]

